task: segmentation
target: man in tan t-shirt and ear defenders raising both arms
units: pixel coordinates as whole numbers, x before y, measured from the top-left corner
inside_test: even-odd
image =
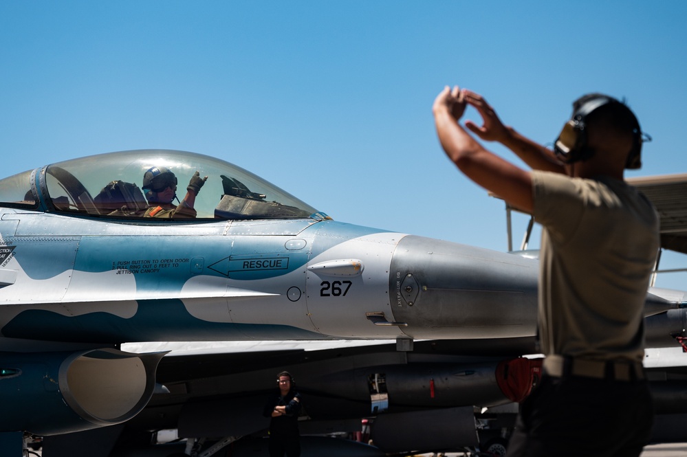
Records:
[[[470,104],[483,125],[532,168],[487,151],[458,120]],[[468,178],[543,226],[540,385],[521,404],[508,456],[639,456],[653,407],[644,379],[644,300],[659,249],[659,219],[627,185],[642,131],[625,104],[593,93],[574,103],[555,151],[504,126],[479,94],[446,87],[433,112],[439,142]]]

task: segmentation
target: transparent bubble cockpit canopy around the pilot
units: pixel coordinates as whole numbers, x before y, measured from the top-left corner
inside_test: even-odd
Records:
[[[177,182],[173,204],[179,205],[196,171],[208,177],[193,203],[197,219],[320,216],[303,201],[226,161],[157,149],[92,155],[2,179],[0,205],[97,217],[142,217],[157,205],[155,186]]]

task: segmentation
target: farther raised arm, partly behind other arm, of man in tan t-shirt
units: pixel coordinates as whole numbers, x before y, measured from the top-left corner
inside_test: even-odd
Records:
[[[482,125],[466,120],[465,126],[484,141],[495,141],[509,148],[533,170],[565,173],[565,164],[559,161],[549,148],[521,135],[511,126],[503,125],[496,111],[484,98],[473,91],[463,89],[466,103],[477,109]]]

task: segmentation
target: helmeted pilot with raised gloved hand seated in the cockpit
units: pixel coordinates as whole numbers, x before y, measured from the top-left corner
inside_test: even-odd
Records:
[[[153,166],[143,175],[143,190],[146,191],[146,200],[149,208],[146,209],[144,217],[193,219],[196,211],[195,197],[200,192],[208,177],[200,177],[200,172],[195,172],[186,187],[186,196],[173,205],[172,201],[177,197],[177,177],[174,173],[164,166]]]

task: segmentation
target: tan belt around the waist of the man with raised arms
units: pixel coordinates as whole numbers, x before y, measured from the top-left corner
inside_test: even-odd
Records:
[[[620,360],[591,360],[563,355],[548,355],[544,359],[544,372],[549,376],[579,376],[611,381],[637,381],[644,379],[640,362]]]

